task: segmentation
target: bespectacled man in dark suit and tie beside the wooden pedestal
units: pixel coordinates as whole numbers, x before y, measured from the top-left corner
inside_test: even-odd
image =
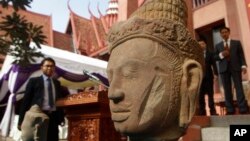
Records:
[[[41,62],[41,70],[43,74],[31,78],[26,86],[19,113],[18,129],[21,130],[25,112],[32,105],[37,104],[49,117],[47,141],[58,141],[58,125],[64,125],[64,113],[55,105],[56,100],[62,97],[60,82],[52,78],[55,61],[52,58],[45,58]]]

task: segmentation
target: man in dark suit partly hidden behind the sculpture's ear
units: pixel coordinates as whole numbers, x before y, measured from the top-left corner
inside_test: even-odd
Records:
[[[210,115],[218,115],[214,106],[214,74],[218,75],[216,64],[214,61],[214,55],[207,48],[207,43],[204,39],[198,41],[200,47],[204,51],[204,76],[201,83],[200,93],[199,93],[199,115],[204,116],[206,113],[206,103],[205,95],[208,95],[208,105],[210,110]]]

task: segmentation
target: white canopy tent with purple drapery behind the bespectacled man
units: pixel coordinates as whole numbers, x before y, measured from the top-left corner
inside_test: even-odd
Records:
[[[31,46],[34,46],[34,44]],[[51,57],[55,60],[56,67],[58,68],[57,70],[61,72],[57,75],[57,78],[63,86],[70,89],[80,89],[104,84],[103,82],[106,81],[106,61],[78,55],[45,45],[42,45],[40,51],[45,57]],[[39,66],[38,64],[40,64],[42,59],[43,58],[37,58],[34,65],[37,64],[37,66]],[[0,72],[0,106],[7,105],[4,117],[0,124],[2,136],[8,136],[8,132],[10,127],[12,127],[11,124],[15,115],[14,102],[22,98],[28,78],[42,74],[39,68],[29,70],[28,72],[26,70],[24,75],[27,79],[24,79],[24,76],[20,75],[23,72],[19,71],[19,69],[12,64],[13,61],[14,58],[12,56],[7,56]],[[69,79],[71,77],[72,79]],[[88,79],[91,77],[92,79]],[[104,81],[101,81],[101,79]],[[104,85],[106,86],[107,84]],[[8,98],[8,102],[6,97]],[[4,102],[4,100],[6,102]]]

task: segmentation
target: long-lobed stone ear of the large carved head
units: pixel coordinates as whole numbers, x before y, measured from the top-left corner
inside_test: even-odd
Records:
[[[202,67],[195,60],[185,60],[182,71],[179,126],[186,127],[195,113],[196,99],[202,81]]]

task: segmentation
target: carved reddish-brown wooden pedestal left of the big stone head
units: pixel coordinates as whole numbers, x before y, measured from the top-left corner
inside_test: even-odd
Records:
[[[110,118],[106,91],[70,95],[57,101],[68,119],[68,141],[122,141]]]

